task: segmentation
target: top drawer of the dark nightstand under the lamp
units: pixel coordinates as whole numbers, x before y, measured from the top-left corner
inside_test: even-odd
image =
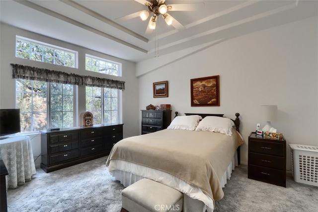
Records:
[[[285,153],[284,143],[273,143],[273,142],[249,140],[248,144],[249,144],[250,152],[284,157],[284,153]]]

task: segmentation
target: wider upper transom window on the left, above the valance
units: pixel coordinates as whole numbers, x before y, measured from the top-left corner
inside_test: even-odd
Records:
[[[77,68],[78,53],[70,49],[16,36],[15,57]]]

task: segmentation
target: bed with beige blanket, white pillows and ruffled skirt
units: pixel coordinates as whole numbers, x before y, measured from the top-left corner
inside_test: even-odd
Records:
[[[106,161],[109,172],[125,187],[142,178],[184,194],[183,212],[212,212],[222,188],[239,164],[239,113],[185,113],[167,129],[117,142]]]

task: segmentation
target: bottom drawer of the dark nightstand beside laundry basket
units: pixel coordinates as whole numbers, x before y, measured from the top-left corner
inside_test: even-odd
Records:
[[[286,187],[286,178],[282,170],[249,165],[248,178]]]

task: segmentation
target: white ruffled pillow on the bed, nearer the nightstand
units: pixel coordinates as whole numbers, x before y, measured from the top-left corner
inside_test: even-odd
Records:
[[[235,126],[234,121],[230,118],[206,116],[200,121],[195,130],[220,132],[222,134],[232,135],[233,126]]]

